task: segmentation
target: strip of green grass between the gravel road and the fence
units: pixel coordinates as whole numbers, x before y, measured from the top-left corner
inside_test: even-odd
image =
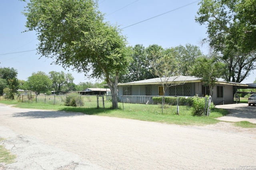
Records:
[[[162,106],[160,105],[146,105],[146,104],[122,104],[118,103],[119,109],[110,109],[111,102],[105,102],[105,109],[97,109],[97,103],[90,101],[84,102],[82,107],[71,107],[64,105],[53,105],[44,102],[18,102],[17,100],[0,100],[0,103],[8,105],[16,105],[15,107],[20,108],[33,108],[33,109],[44,109],[54,111],[68,111],[68,112],[80,112],[87,115],[100,115],[108,117],[120,117],[126,119],[136,119],[142,121],[153,121],[168,124],[177,125],[208,125],[220,122],[216,117],[221,117],[228,114],[225,109],[214,108],[211,111],[210,116],[192,116],[191,107],[180,106],[179,115],[177,115],[177,106],[164,106],[162,113]]]

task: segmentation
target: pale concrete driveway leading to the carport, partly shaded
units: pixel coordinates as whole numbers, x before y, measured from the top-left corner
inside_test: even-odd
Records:
[[[248,104],[225,104],[218,105],[216,108],[227,109],[230,114],[217,118],[222,121],[249,121],[256,123],[256,106],[248,106]]]

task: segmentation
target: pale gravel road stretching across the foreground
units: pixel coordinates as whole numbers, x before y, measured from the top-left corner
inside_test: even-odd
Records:
[[[256,170],[255,129],[168,125],[0,104],[6,170]],[[244,166],[244,167],[243,167]]]

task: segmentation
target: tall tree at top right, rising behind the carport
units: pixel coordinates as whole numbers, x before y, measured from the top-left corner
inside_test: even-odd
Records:
[[[201,0],[196,21],[205,24],[209,43],[227,65],[226,81],[242,82],[255,69],[255,0]]]

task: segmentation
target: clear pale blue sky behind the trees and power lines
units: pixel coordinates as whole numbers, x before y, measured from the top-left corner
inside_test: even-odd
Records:
[[[199,8],[198,1],[99,0],[98,2],[99,10],[106,14],[106,21],[120,25],[120,28],[126,27],[122,33],[126,35],[129,45],[142,44],[148,47],[148,45],[158,44],[163,48],[170,48],[190,43],[199,46],[204,54],[208,54],[208,46],[201,45],[201,40],[207,37],[206,27],[194,20]],[[36,32],[23,32],[26,29],[24,26],[26,17],[21,14],[24,6],[26,3],[18,0],[1,0],[0,2],[0,67],[17,69],[20,80],[27,80],[32,72],[44,71],[48,74],[54,70],[70,72],[74,76],[75,84],[102,81],[88,79],[84,73],[77,73],[71,69],[64,70],[61,66],[52,65],[52,59],[44,57],[39,59],[40,56],[36,51],[30,51],[36,49],[38,41]],[[171,10],[173,11],[158,16]],[[154,16],[158,17],[147,20]],[[138,23],[140,21],[144,22]],[[132,25],[135,23],[138,24]],[[28,52],[15,53],[19,51]],[[1,55],[6,53],[12,54]],[[248,79],[243,83],[252,83],[255,80],[255,74]]]

